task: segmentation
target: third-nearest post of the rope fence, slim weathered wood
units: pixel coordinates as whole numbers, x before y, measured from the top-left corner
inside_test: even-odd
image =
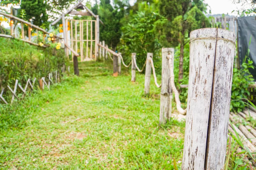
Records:
[[[151,77],[151,63],[149,58],[153,59],[153,53],[147,53],[146,70],[145,70],[145,84],[144,84],[144,95],[149,94],[150,89],[150,77]]]

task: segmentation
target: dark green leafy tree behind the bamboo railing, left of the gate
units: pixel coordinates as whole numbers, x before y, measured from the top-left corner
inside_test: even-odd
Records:
[[[47,4],[44,0],[22,0],[20,8],[26,11],[26,20],[33,21],[33,24],[47,26],[48,15],[46,14]]]

